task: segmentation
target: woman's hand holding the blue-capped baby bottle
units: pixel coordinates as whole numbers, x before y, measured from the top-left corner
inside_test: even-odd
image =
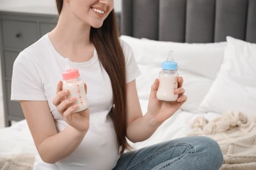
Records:
[[[151,87],[150,99],[148,103],[148,116],[152,118],[152,122],[155,125],[162,124],[167,118],[170,118],[175,112],[180,109],[181,105],[187,100],[186,95],[184,95],[184,88],[182,88],[183,78],[179,76],[178,78],[178,88],[175,90],[179,97],[176,101],[160,101],[156,97],[156,92],[158,91],[159,80],[156,79]]]

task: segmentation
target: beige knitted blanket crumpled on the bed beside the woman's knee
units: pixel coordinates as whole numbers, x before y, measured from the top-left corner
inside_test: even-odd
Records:
[[[221,170],[256,169],[256,117],[226,112],[214,120],[198,117],[191,122],[188,135],[215,139],[224,156]]]

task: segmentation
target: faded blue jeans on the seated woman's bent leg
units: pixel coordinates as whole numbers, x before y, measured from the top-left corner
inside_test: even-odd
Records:
[[[114,170],[217,170],[223,164],[219,144],[209,137],[183,137],[126,152]]]

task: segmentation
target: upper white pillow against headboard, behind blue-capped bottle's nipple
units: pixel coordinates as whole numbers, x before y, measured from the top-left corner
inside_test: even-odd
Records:
[[[133,48],[137,63],[158,64],[167,58],[169,50],[179,69],[194,72],[208,78],[215,79],[221,67],[226,42],[215,43],[181,43],[169,41],[154,41],[137,39],[121,35],[121,39]]]

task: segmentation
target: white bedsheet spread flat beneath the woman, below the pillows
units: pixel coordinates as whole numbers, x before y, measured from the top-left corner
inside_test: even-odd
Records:
[[[145,112],[148,101],[140,100],[140,104],[142,111]],[[205,118],[208,120],[211,120],[211,118],[215,118],[215,116],[218,116],[219,114],[195,114],[192,112],[178,110],[171,118],[166,120],[158,128],[158,130],[154,133],[154,135],[152,135],[152,137],[150,137],[150,139],[140,143],[131,143],[131,146],[133,146],[133,148],[142,148],[150,144],[184,137],[191,129],[189,125],[190,120],[193,120],[197,116],[202,115],[205,116]],[[11,127],[0,129],[0,139],[0,156],[24,153],[35,154],[37,152],[26,120],[17,122]]]

